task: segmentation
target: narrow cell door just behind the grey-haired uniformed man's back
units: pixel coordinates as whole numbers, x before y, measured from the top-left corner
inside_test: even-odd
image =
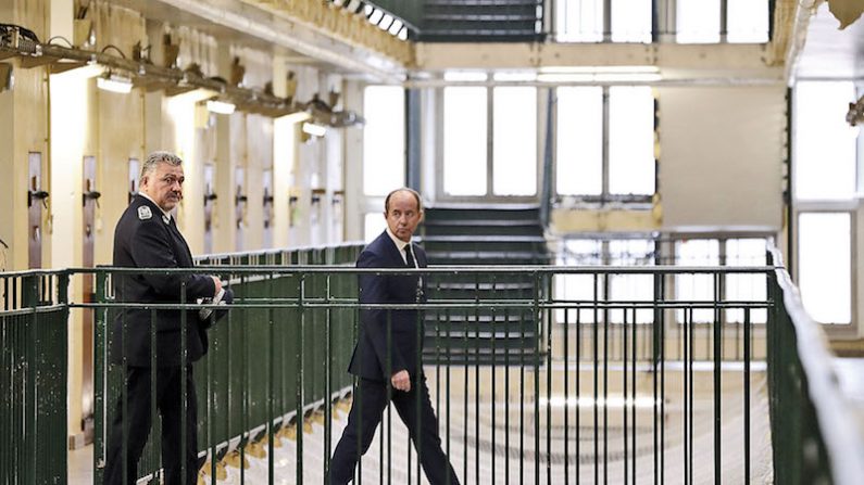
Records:
[[[92,268],[96,264],[96,208],[101,193],[96,190],[96,157],[85,156],[82,179],[82,266]],[[96,301],[93,275],[82,276],[84,302]],[[83,353],[82,353],[82,429],[91,427],[93,414],[93,310],[85,308],[83,315]]]

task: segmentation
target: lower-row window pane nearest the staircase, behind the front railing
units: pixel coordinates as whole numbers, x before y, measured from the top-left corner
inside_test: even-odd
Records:
[[[564,241],[564,251],[558,256],[555,261],[559,266],[591,266],[602,264],[602,244],[597,240],[572,239]],[[552,277],[552,284],[555,289],[555,298],[564,301],[593,302],[594,290],[597,298],[603,298],[603,280],[594,279],[592,275],[555,275]],[[597,284],[597,288],[594,288]],[[578,311],[578,315],[577,315]],[[564,322],[565,311],[555,309],[555,319]],[[566,323],[593,323],[594,310],[584,308],[579,310],[566,311]],[[602,312],[599,314],[602,318]]]

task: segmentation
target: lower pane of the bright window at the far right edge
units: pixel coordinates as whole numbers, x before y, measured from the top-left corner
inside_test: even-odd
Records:
[[[798,226],[798,286],[821,323],[852,321],[851,228],[847,213],[805,213]]]

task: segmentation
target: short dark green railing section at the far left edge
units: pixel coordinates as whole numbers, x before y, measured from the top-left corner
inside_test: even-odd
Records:
[[[0,273],[0,483],[66,482],[63,272]]]

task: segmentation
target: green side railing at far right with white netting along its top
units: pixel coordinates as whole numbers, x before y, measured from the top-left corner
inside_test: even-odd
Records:
[[[772,259],[782,264],[779,252]],[[778,484],[856,484],[864,438],[840,390],[822,327],[804,310],[789,275],[776,271],[768,327],[768,379]]]

